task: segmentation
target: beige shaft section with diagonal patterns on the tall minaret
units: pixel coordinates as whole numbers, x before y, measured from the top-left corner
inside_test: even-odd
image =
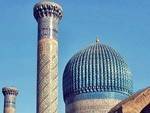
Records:
[[[57,113],[58,44],[55,39],[43,38],[38,47],[37,111]]]

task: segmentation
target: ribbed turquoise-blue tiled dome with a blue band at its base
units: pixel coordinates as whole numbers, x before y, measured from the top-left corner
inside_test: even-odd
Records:
[[[123,58],[111,47],[96,43],[75,54],[63,75],[66,104],[92,98],[124,99],[132,93],[132,77]]]

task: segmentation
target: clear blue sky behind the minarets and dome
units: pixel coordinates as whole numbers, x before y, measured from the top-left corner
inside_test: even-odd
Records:
[[[16,86],[16,113],[36,113],[38,0],[0,0],[0,89]],[[150,86],[150,0],[56,0],[59,24],[59,113],[65,113],[62,75],[80,49],[100,43],[116,49],[133,74],[134,91]],[[3,94],[0,93],[0,112]]]

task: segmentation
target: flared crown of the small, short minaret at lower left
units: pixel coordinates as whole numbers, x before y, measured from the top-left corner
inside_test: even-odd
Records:
[[[15,87],[4,87],[2,88],[3,95],[18,95],[18,90]]]

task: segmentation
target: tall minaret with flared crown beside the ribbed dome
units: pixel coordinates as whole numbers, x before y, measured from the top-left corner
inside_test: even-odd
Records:
[[[58,112],[58,24],[62,7],[50,0],[34,6],[38,22],[37,113]]]

